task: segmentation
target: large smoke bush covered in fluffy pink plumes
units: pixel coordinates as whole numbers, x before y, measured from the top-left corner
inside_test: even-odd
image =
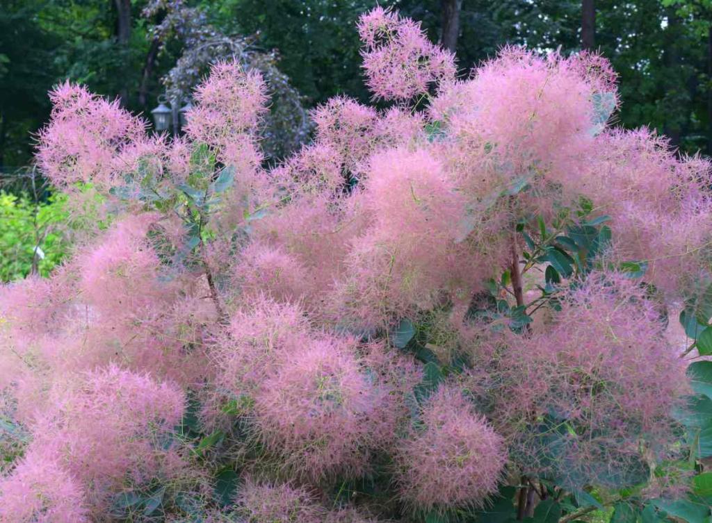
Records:
[[[397,13],[360,34],[391,105],[331,100],[270,170],[236,63],[184,139],[53,92],[39,164],[114,218],[0,289],[0,521],[710,515],[708,162],[609,128],[599,56],[458,79]]]

